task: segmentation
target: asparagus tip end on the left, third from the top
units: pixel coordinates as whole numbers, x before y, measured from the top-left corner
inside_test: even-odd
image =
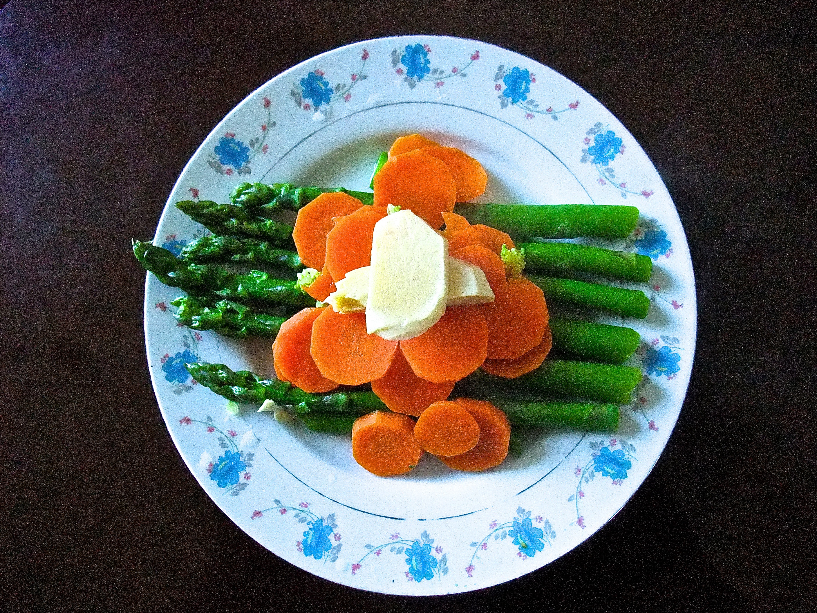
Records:
[[[192,264],[267,262],[296,272],[306,268],[294,251],[278,248],[268,240],[235,236],[202,236],[186,244],[179,257]]]

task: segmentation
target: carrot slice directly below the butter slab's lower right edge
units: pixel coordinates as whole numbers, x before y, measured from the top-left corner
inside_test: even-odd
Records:
[[[459,381],[485,361],[488,326],[475,306],[448,307],[420,336],[400,341],[414,374],[431,383]]]

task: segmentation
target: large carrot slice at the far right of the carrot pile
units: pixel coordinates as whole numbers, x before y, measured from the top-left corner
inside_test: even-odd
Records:
[[[522,275],[493,293],[493,302],[479,305],[489,329],[488,358],[516,360],[542,342],[549,318],[545,296]]]

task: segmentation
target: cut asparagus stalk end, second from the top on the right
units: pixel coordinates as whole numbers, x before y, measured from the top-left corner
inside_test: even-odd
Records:
[[[555,275],[580,271],[626,281],[649,281],[653,271],[650,257],[572,243],[522,243],[528,271]]]

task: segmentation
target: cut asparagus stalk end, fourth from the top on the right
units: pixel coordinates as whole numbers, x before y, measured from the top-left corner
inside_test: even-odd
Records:
[[[553,348],[587,360],[622,364],[636,351],[641,335],[632,328],[551,317]]]

